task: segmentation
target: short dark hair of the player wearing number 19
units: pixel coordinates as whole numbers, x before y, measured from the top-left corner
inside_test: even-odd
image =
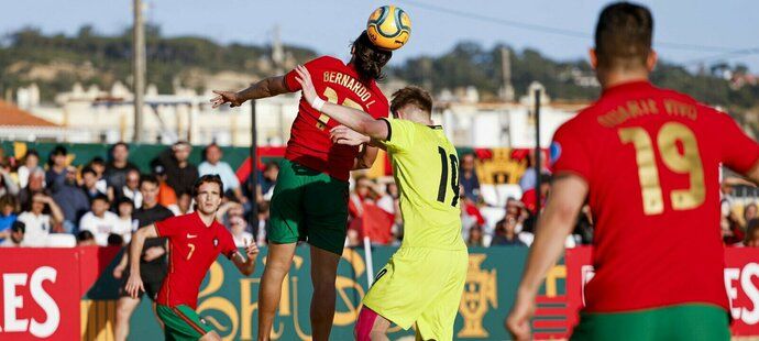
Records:
[[[646,65],[652,36],[653,18],[648,8],[629,2],[607,6],[601,11],[595,28],[598,66],[636,68]]]

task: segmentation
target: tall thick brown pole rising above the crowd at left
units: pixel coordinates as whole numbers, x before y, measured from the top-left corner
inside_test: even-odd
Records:
[[[133,142],[143,142],[142,107],[145,103],[145,28],[142,22],[142,0],[134,0],[134,37],[132,40],[132,91],[134,92],[134,138]]]

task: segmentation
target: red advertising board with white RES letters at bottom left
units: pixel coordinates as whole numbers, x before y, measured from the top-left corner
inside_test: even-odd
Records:
[[[0,249],[0,339],[78,340],[76,249]]]

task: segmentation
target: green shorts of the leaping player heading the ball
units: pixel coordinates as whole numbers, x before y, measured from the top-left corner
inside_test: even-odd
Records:
[[[279,164],[272,196],[268,241],[308,241],[342,255],[348,230],[348,182],[288,160]]]

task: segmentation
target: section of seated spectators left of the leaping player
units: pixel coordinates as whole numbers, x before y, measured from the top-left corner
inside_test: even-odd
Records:
[[[63,145],[45,165],[35,150],[20,160],[0,155],[0,246],[125,245],[141,221],[191,212],[193,184],[206,174],[218,174],[224,184],[218,219],[235,242],[265,243],[277,163],[257,174],[254,189],[251,182],[240,184],[218,145],[206,146],[197,166],[189,162],[191,148],[175,143],[150,162],[148,172],[130,162],[125,143],[112,145],[107,160],[96,156],[79,166]],[[258,215],[251,219],[253,208]]]

